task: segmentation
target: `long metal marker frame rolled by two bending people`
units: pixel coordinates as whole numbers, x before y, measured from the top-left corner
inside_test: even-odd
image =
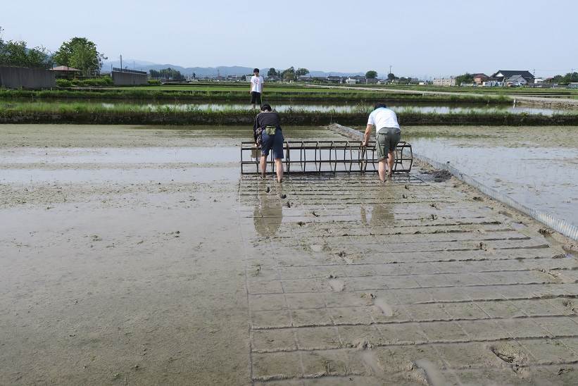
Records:
[[[283,154],[286,173],[377,173],[375,142],[364,147],[362,141],[353,140],[286,141]],[[241,142],[241,174],[259,173],[259,158],[253,142]],[[267,162],[274,167],[272,151]],[[394,173],[410,173],[412,165],[411,145],[399,142]]]

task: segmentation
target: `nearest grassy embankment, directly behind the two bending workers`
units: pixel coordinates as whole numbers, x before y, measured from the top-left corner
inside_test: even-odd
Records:
[[[300,111],[282,113],[282,122],[291,125],[342,123],[360,125],[369,111]],[[115,104],[112,107],[91,103],[24,103],[0,105],[0,123],[84,123],[84,124],[167,124],[167,125],[251,125],[256,115],[249,109],[212,110],[187,106],[144,106]],[[402,125],[578,125],[578,114],[502,113],[469,111],[465,113],[421,113],[406,109],[398,113]]]

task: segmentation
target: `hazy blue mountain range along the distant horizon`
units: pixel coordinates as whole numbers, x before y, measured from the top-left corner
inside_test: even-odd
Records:
[[[111,67],[120,68],[120,61],[104,61],[102,70],[103,72],[110,71]],[[129,68],[130,70],[162,70],[163,68],[173,68],[180,71],[183,75],[196,75],[196,77],[214,77],[217,75],[228,76],[228,75],[249,75],[253,73],[252,67],[242,67],[242,66],[218,66],[218,67],[182,67],[176,66],[174,64],[158,64],[148,61],[137,61],[132,59],[127,59],[122,61],[122,67]],[[261,75],[267,75],[269,68],[260,68]],[[279,68],[277,68],[279,70]],[[365,73],[339,73],[339,72],[326,72],[326,71],[311,71],[308,75],[310,76],[355,76],[355,75],[365,75]]]

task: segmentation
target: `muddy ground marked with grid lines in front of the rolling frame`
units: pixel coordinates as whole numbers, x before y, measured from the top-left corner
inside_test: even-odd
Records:
[[[241,178],[253,384],[576,379],[577,261],[451,185],[374,177]]]

